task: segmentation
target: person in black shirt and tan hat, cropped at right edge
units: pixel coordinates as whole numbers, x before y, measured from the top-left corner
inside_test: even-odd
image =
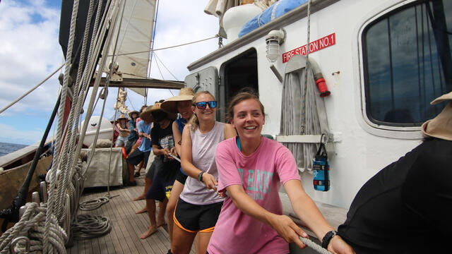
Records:
[[[358,191],[338,234],[357,253],[441,253],[452,235],[452,92],[423,142]]]

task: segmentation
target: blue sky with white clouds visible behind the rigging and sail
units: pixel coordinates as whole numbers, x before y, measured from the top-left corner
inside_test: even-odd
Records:
[[[202,40],[217,34],[218,18],[203,12],[207,3],[208,0],[160,1],[154,49]],[[64,63],[58,42],[60,8],[61,1],[58,0],[0,1],[0,109]],[[215,49],[218,49],[217,39],[158,51],[158,58],[172,74],[159,62],[160,73],[154,57],[150,78],[183,81],[189,74],[186,66]],[[41,140],[57,102],[58,75],[59,72],[0,114],[0,142],[29,145]],[[148,104],[177,93],[177,90],[149,90]],[[117,88],[110,88],[104,113],[107,119],[114,115],[116,95]],[[126,105],[129,109],[139,110],[143,103],[141,95],[128,91]],[[101,109],[102,103],[99,102],[93,116],[100,115]],[[53,134],[52,128],[49,136]]]

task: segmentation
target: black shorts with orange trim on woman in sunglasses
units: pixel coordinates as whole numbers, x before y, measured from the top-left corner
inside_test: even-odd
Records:
[[[174,223],[190,233],[212,232],[215,229],[223,202],[209,205],[192,205],[181,198],[174,210]]]

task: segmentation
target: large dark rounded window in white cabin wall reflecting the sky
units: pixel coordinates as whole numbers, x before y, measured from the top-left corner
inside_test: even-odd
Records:
[[[420,126],[452,90],[452,1],[417,1],[362,33],[367,118],[383,126]]]

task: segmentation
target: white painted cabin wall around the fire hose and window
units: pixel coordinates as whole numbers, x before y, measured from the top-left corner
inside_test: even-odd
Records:
[[[407,139],[403,131],[375,130],[365,121],[362,111],[364,80],[359,37],[363,25],[372,18],[381,16],[385,10],[410,2],[412,1],[342,0],[311,14],[311,42],[333,32],[336,40],[335,45],[309,54],[309,58],[319,63],[331,91],[331,96],[325,98],[325,105],[329,127],[338,140],[334,147],[335,155],[330,155],[330,191],[314,191],[312,175],[307,171],[301,174],[305,191],[316,201],[348,208],[359,188],[371,176],[421,142],[420,138]],[[287,37],[281,45],[281,54],[306,44],[307,18],[287,25],[284,29]],[[278,135],[283,83],[270,71],[270,63],[266,59],[265,37],[214,59],[191,73],[208,66],[215,66],[220,71],[222,63],[250,48],[255,48],[257,52],[259,95],[267,115],[263,133]],[[282,57],[273,64],[284,75],[286,64]],[[340,73],[332,75],[338,71]],[[415,136],[421,137],[420,131],[415,133]]]

